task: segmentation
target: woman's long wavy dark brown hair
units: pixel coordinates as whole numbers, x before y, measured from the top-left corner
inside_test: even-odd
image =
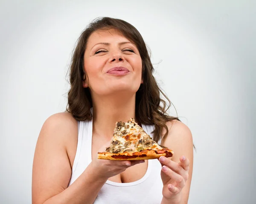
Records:
[[[154,68],[146,44],[140,32],[124,20],[100,17],[93,20],[81,33],[77,40],[76,48],[73,52],[70,64],[70,90],[68,92],[67,111],[78,121],[92,120],[90,108],[92,108],[92,97],[88,88],[82,86],[84,79],[84,52],[87,40],[90,35],[98,30],[118,29],[126,38],[137,46],[142,59],[142,78],[143,84],[140,85],[136,93],[135,116],[141,124],[154,125],[153,139],[158,142],[163,128],[166,133],[162,142],[168,134],[167,121],[179,120],[178,118],[166,114],[171,106],[171,101],[163,93],[153,76]],[[168,101],[161,98],[161,95]]]

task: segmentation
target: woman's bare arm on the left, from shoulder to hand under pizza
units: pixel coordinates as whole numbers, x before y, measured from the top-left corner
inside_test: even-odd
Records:
[[[70,152],[76,152],[77,129],[69,113],[58,113],[45,121],[35,148],[32,204],[92,204],[108,178],[138,164],[96,159],[68,187],[74,159]]]

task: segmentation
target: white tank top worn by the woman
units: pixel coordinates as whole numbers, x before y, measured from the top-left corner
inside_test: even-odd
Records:
[[[154,126],[142,125],[151,136]],[[69,186],[84,172],[92,161],[91,145],[93,122],[78,122],[78,144]],[[161,141],[158,142],[159,144]],[[161,164],[157,159],[148,160],[148,169],[138,181],[116,183],[106,181],[94,201],[94,204],[160,204],[163,198],[163,183],[160,176]],[[86,189],[84,189],[86,190]]]

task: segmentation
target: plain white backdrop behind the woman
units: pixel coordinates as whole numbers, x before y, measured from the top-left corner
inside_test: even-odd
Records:
[[[139,30],[157,80],[192,131],[189,204],[255,203],[253,0],[2,0],[0,203],[31,203],[38,134],[50,115],[64,111],[76,39],[99,16]]]

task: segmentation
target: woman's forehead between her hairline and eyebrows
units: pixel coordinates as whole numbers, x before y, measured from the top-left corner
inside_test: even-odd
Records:
[[[128,40],[118,29],[106,29],[93,32],[87,41],[87,46],[91,47],[96,43],[111,43]]]

